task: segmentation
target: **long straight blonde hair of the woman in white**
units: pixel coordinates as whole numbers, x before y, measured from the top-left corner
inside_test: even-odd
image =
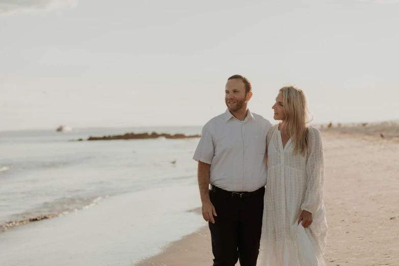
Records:
[[[279,91],[283,95],[285,120],[281,122],[281,131],[292,138],[294,142],[294,154],[305,155],[309,148],[309,122],[305,93],[294,86],[283,87]]]

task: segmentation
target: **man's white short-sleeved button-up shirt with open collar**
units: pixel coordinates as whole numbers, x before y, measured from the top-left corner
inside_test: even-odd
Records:
[[[210,164],[211,185],[251,192],[266,184],[266,136],[272,124],[248,110],[244,121],[229,110],[202,128],[193,159]]]

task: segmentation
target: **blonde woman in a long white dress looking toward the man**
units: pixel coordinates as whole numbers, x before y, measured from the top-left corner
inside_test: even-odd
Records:
[[[281,122],[267,136],[268,180],[257,265],[324,266],[328,227],[322,137],[308,125],[302,90],[280,89],[272,108]]]

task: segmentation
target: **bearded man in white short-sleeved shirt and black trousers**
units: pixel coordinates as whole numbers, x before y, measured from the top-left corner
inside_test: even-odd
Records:
[[[259,254],[266,184],[266,136],[272,124],[251,113],[251,83],[228,78],[227,110],[202,129],[194,153],[202,216],[209,223],[214,266],[255,266]],[[210,189],[209,189],[210,184]]]

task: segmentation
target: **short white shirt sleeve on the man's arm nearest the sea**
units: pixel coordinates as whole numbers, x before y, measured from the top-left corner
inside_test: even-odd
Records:
[[[193,159],[197,162],[203,162],[205,164],[211,164],[212,159],[215,155],[215,145],[212,140],[212,135],[208,125],[202,128],[201,139],[198,143],[197,149],[194,152]]]

